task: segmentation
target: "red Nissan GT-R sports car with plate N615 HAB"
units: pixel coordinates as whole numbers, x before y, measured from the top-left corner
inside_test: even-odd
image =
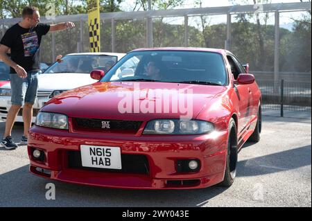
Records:
[[[261,92],[229,51],[142,48],[55,96],[28,138],[31,173],[138,189],[230,186],[261,132]]]

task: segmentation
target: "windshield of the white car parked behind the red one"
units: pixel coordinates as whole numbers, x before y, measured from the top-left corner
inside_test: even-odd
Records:
[[[106,73],[116,62],[117,56],[67,55],[44,73],[90,73],[94,69],[101,69]]]

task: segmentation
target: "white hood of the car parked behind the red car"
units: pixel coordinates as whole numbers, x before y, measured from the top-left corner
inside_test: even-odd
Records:
[[[38,76],[38,91],[70,90],[94,82],[97,80],[87,73],[42,73]],[[2,87],[10,88],[10,84]]]

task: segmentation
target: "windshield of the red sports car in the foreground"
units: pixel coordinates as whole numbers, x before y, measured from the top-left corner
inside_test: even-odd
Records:
[[[102,79],[110,81],[182,82],[227,85],[223,56],[202,51],[135,51]]]

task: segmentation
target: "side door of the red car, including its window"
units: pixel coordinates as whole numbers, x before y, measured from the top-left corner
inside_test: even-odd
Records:
[[[240,73],[245,73],[245,69],[239,63],[239,61],[231,54],[227,55],[227,60],[231,66],[231,71],[236,80]],[[252,90],[250,85],[238,85],[234,84],[234,90],[239,98],[239,119],[238,119],[238,130],[239,135],[241,135],[245,130],[248,129],[251,118],[252,107]]]

